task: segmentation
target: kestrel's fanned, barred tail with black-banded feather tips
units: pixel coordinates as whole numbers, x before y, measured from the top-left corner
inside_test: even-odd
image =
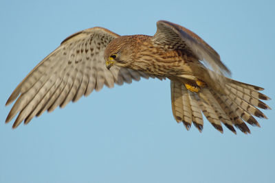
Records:
[[[220,132],[223,132],[223,123],[236,134],[233,125],[241,132],[248,134],[250,125],[259,126],[252,116],[267,118],[258,108],[270,109],[261,99],[269,97],[259,93],[263,88],[228,79],[225,84],[225,93],[219,93],[208,86],[202,87],[198,93],[187,90],[184,83],[171,81],[172,109],[177,122],[183,122],[189,130],[190,124],[203,129],[201,112],[206,119]]]

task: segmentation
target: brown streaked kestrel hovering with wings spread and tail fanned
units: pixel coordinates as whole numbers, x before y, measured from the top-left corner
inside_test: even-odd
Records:
[[[267,119],[258,108],[270,109],[260,100],[270,98],[259,93],[263,88],[229,76],[212,47],[175,23],[158,21],[154,36],[119,36],[94,27],[63,40],[25,77],[6,103],[17,99],[5,122],[19,112],[15,128],[104,85],[112,88],[140,77],[157,77],[170,80],[173,116],[187,130],[193,123],[201,132],[203,113],[219,132],[223,123],[234,134],[234,126],[250,133],[245,122],[260,126],[253,116]]]

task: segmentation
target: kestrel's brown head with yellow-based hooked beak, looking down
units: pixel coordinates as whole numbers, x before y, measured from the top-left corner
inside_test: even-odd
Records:
[[[104,60],[107,69],[117,65],[126,67],[131,64],[131,36],[120,36],[113,39],[104,51]]]

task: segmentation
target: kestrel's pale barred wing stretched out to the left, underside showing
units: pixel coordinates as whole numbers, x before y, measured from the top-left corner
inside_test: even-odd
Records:
[[[118,36],[108,29],[94,27],[66,38],[10,95],[6,105],[20,96],[12,106],[6,123],[19,112],[12,126],[15,128],[23,120],[28,123],[45,110],[52,111],[57,106],[63,108],[69,101],[77,101],[104,85],[112,88],[114,84],[138,81],[141,76],[148,78],[144,73],[131,69],[106,68],[104,49]]]

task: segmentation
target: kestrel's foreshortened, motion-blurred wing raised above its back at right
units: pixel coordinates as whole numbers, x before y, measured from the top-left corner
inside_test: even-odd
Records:
[[[221,62],[219,54],[197,34],[185,27],[168,21],[158,21],[157,32],[153,40],[170,49],[184,49],[191,53],[198,60],[203,61],[206,66],[210,66],[210,69],[214,71],[210,72],[210,75],[216,80],[225,74],[230,75],[229,69]]]

